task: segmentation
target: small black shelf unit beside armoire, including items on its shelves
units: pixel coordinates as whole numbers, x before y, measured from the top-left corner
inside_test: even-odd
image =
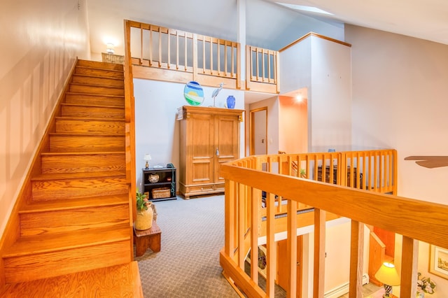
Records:
[[[146,193],[150,201],[177,199],[176,168],[149,168],[142,171],[141,192]]]

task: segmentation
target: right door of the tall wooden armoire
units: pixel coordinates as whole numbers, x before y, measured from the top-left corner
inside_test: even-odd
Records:
[[[239,158],[239,118],[235,115],[215,116],[215,183],[223,183],[219,166]]]

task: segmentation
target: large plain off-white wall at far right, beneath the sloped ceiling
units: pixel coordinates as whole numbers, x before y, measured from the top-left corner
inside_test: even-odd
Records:
[[[398,194],[448,204],[448,167],[404,160],[447,155],[448,45],[355,26],[346,26],[346,41],[352,44],[353,144],[395,148]],[[428,274],[428,257],[428,244],[421,243],[419,271],[437,283],[431,297],[447,297],[448,281]]]

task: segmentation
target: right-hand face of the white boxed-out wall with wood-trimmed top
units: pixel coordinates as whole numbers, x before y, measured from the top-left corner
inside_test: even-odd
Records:
[[[351,56],[348,46],[311,36],[310,93],[310,151],[350,148]]]

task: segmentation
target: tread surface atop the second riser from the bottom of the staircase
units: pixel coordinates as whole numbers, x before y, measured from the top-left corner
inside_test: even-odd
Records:
[[[57,211],[78,209],[91,206],[113,206],[128,204],[129,194],[109,194],[107,196],[81,197],[69,200],[33,201],[22,206],[19,213],[36,213],[44,211]]]

